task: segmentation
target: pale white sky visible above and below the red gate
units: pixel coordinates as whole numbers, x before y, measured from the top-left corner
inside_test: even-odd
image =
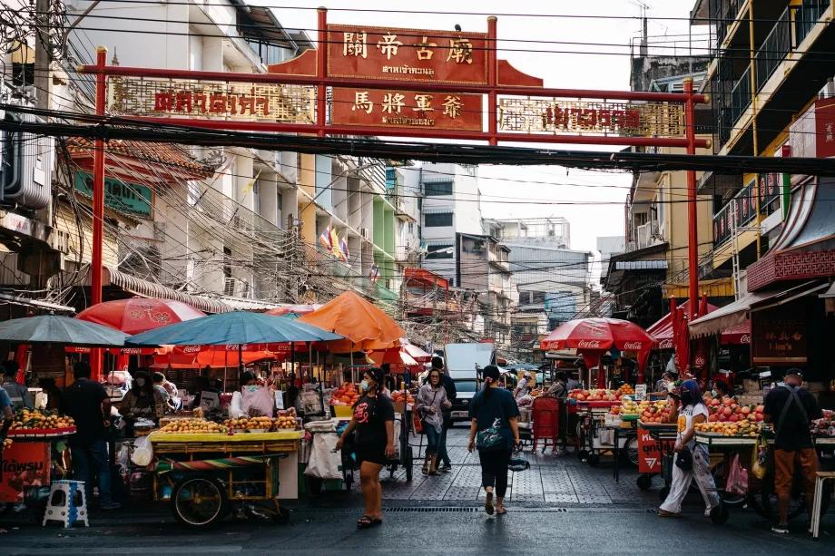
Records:
[[[315,39],[315,9],[276,7],[285,4],[277,0],[249,1],[252,5],[272,7],[273,13],[285,27],[307,29]],[[694,0],[653,0],[647,3],[639,0],[286,2],[288,6],[309,8],[324,5],[329,8],[328,20],[332,24],[390,25],[422,29],[452,29],[455,24],[460,24],[465,31],[483,33],[486,32],[487,15],[496,15],[500,51],[498,57],[507,60],[523,73],[543,78],[545,87],[627,91],[630,69],[629,44],[634,37],[641,34],[640,17],[644,10],[649,18],[649,42],[654,44],[656,49],[666,49],[663,54],[686,54],[689,31],[686,18],[693,4]],[[359,12],[342,11],[339,8],[436,13]],[[449,12],[479,15],[452,15]],[[612,16],[623,18],[615,19]],[[706,33],[706,28],[694,27],[693,34],[699,33]],[[530,50],[548,52],[521,52]],[[554,144],[530,146],[584,149],[579,146]],[[614,150],[606,147],[585,149]],[[571,224],[572,249],[592,250],[595,254],[597,237],[624,235],[624,200],[632,181],[628,173],[567,170],[558,166],[481,166],[478,169],[478,177],[483,200],[482,215],[485,218],[562,216]],[[599,263],[594,268],[594,274],[598,272]]]

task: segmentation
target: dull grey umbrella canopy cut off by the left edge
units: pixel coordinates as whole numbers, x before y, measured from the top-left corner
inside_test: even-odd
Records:
[[[123,347],[127,337],[127,334],[113,328],[58,315],[15,318],[0,322],[0,344]]]

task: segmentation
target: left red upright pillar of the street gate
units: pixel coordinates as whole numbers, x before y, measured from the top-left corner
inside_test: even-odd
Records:
[[[103,116],[107,102],[107,48],[95,49],[95,64],[101,70],[95,75],[95,115]],[[96,139],[93,145],[93,264],[90,268],[90,298],[93,305],[102,302],[102,250],[104,241],[104,141]],[[90,351],[90,367],[93,380],[102,376],[103,354],[101,349]]]

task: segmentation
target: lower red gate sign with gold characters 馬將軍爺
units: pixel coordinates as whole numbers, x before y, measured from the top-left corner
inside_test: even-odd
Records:
[[[334,87],[330,118],[335,125],[480,132],[482,101],[480,94]]]

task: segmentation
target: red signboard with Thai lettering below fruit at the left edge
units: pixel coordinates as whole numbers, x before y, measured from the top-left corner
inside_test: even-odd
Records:
[[[28,488],[49,486],[48,442],[15,442],[3,450],[0,502],[23,502]]]

